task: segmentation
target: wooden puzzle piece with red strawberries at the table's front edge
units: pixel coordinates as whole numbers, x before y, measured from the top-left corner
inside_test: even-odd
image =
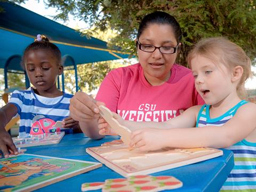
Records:
[[[97,186],[97,187],[94,187]],[[182,182],[172,176],[135,175],[129,178],[107,179],[105,182],[83,183],[82,191],[101,189],[115,191],[161,191],[182,187]]]

